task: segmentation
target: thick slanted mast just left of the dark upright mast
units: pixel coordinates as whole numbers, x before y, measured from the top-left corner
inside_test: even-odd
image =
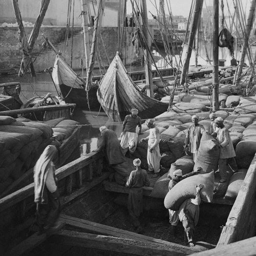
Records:
[[[189,67],[189,60],[190,60],[191,52],[193,49],[196,31],[199,26],[201,11],[203,8],[203,2],[204,2],[203,0],[196,0],[196,3],[195,3],[194,15],[193,15],[192,25],[190,27],[189,38],[188,38],[187,52],[186,52],[186,56],[185,56],[185,62],[183,63],[182,73],[181,73],[181,78],[180,78],[180,84],[182,86],[184,85],[184,83],[186,81],[186,76],[187,76],[188,67]]]

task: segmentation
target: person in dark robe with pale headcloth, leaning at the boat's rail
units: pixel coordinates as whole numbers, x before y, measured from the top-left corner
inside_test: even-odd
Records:
[[[110,165],[124,162],[125,157],[116,133],[106,126],[101,126],[99,130],[99,145],[93,152],[104,151],[106,160]]]

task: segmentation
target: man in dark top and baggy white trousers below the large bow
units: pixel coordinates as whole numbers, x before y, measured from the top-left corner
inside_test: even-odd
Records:
[[[121,147],[123,154],[129,150],[130,153],[134,153],[137,147],[138,134],[136,133],[136,127],[139,127],[139,134],[141,133],[141,119],[138,116],[139,111],[132,109],[131,115],[127,115],[123,121],[122,134],[121,134]]]

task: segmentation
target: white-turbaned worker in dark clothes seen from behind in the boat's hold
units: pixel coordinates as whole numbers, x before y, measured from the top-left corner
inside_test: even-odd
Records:
[[[128,210],[132,218],[133,224],[136,227],[136,232],[142,232],[142,227],[139,222],[140,214],[143,211],[143,186],[149,186],[146,170],[141,169],[141,161],[139,158],[133,161],[136,170],[133,170],[127,180],[125,186],[129,187]]]

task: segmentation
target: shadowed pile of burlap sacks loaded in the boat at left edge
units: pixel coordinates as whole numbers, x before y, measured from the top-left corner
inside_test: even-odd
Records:
[[[76,124],[65,118],[36,122],[0,116],[0,193],[35,165],[47,145],[60,146]]]

